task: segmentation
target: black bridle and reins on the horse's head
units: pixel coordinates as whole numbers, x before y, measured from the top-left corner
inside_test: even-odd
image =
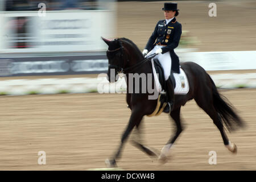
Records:
[[[123,47],[119,47],[117,49],[114,49],[114,50],[109,50],[107,52],[115,52],[115,51],[119,51],[119,50],[122,50],[122,53],[121,53],[121,57],[123,57]],[[153,57],[156,56],[156,53],[148,56],[148,57],[145,57],[143,60],[139,61],[137,64],[131,66],[131,67],[128,67],[128,68],[125,68],[123,69],[123,62],[124,60],[122,59],[122,65],[121,67],[119,65],[114,65],[114,64],[109,64],[109,68],[114,68],[114,69],[117,69],[117,73],[124,73],[124,74],[128,74],[130,72],[133,72],[135,69],[141,67],[142,64],[146,63],[148,60],[152,59]],[[129,61],[129,60],[127,60]],[[130,70],[131,69],[131,70]],[[129,71],[130,70],[130,71]]]

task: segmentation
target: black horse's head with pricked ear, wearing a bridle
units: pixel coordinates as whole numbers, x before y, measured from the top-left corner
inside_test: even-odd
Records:
[[[119,39],[108,40],[102,38],[102,40],[109,46],[108,51],[106,51],[106,55],[109,59],[108,79],[109,82],[115,82],[118,80],[118,73],[121,73],[126,66],[127,59],[125,59],[126,56],[124,55],[125,50]]]

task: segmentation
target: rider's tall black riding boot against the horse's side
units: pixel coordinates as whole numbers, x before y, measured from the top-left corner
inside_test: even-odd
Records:
[[[166,96],[168,104],[163,111],[164,113],[171,113],[172,109],[174,109],[174,85],[170,77],[166,80]]]

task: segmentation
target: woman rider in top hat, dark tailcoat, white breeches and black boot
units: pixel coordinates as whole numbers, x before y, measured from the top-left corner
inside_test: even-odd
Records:
[[[166,93],[168,105],[164,112],[170,113],[174,107],[174,85],[171,81],[171,71],[179,73],[179,57],[174,49],[179,45],[181,36],[181,24],[177,22],[176,16],[179,15],[177,3],[164,3],[164,20],[159,20],[155,30],[150,36],[143,55],[150,56],[153,53],[164,69],[166,80]],[[150,51],[148,53],[148,51]]]

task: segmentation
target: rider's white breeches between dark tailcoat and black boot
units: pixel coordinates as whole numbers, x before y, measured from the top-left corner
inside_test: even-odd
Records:
[[[156,45],[150,52],[148,52],[147,56],[152,55],[153,53],[155,53],[155,51],[159,48],[162,48],[163,46],[158,46]],[[163,69],[164,69],[164,78],[165,80],[168,79],[168,77],[171,75],[171,67],[172,67],[172,60],[171,60],[171,56],[170,56],[170,52],[166,52],[164,54],[159,53],[158,55],[155,56],[155,58],[157,58],[160,62],[160,64],[162,65]]]

